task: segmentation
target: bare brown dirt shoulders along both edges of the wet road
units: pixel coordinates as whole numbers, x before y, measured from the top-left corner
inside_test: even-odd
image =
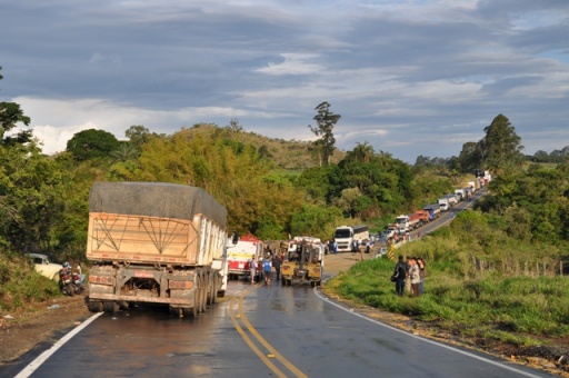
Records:
[[[365,255],[365,258],[369,259],[370,255]],[[358,260],[359,256],[356,253],[328,255],[325,272],[335,276],[340,271],[347,271]],[[327,292],[326,286],[322,289],[330,299],[387,325],[569,378],[569,340],[547,340],[543,347],[520,349],[477,337],[466,338],[459,334],[453,335],[442,330],[436,322],[417,321],[411,317],[361,306],[330,295]],[[87,309],[86,298],[86,296],[60,297],[47,302],[30,304],[27,309],[17,312],[1,312],[0,369],[41,342],[56,342],[62,331],[72,329],[87,320],[92,314]]]

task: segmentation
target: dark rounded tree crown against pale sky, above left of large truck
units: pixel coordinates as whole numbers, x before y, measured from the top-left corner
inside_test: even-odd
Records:
[[[67,142],[67,151],[76,161],[103,158],[119,147],[120,142],[112,133],[96,129],[79,131]]]

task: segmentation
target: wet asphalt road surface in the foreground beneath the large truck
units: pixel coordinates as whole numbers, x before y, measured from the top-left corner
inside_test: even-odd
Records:
[[[23,368],[23,367],[22,367]],[[230,281],[198,318],[104,314],[32,377],[546,377],[369,320],[308,285]]]

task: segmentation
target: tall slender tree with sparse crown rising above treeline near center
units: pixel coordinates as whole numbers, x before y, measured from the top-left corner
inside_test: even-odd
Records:
[[[312,146],[318,151],[320,166],[328,166],[336,145],[332,130],[341,116],[331,112],[330,103],[326,101],[316,107],[315,110],[317,110],[318,113],[312,119],[317,122],[317,127],[309,125],[308,128],[315,136],[320,138],[312,142]]]

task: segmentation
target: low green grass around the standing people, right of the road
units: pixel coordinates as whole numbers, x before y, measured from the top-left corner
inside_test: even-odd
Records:
[[[448,247],[453,250],[453,241]],[[332,278],[327,288],[360,304],[437,321],[439,327],[453,331],[473,329],[471,332],[477,335],[519,346],[539,344],[543,337],[569,336],[567,277],[508,277],[493,272],[465,278],[457,269],[460,259],[442,255],[441,261],[428,265],[426,292],[419,298],[396,296],[395,284],[389,279],[396,262],[387,258],[360,261]]]

